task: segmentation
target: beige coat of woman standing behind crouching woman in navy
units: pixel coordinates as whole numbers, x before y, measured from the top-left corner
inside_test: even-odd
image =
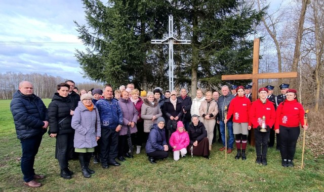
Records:
[[[152,121],[153,115],[156,116],[154,121]],[[141,117],[142,119],[144,119],[145,133],[150,132],[151,127],[153,126],[154,123],[156,123],[157,118],[161,116],[162,116],[162,112],[156,99],[154,99],[154,105],[152,105],[152,103],[149,102],[147,99],[143,100]]]

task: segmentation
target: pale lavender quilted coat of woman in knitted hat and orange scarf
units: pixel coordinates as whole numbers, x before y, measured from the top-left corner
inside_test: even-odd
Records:
[[[71,126],[75,130],[75,148],[93,148],[98,145],[96,137],[101,137],[101,128],[99,112],[96,106],[93,107],[92,111],[89,111],[82,101],[79,101],[72,116]]]

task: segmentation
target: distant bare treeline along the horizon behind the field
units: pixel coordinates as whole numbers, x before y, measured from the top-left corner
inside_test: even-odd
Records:
[[[34,94],[41,98],[52,98],[56,92],[56,85],[65,82],[67,79],[62,77],[49,76],[47,74],[22,74],[7,72],[0,74],[0,99],[12,99],[13,94],[18,90],[21,81],[29,81],[34,86]],[[75,86],[81,90],[90,90],[92,88],[102,88],[99,83],[77,83]]]

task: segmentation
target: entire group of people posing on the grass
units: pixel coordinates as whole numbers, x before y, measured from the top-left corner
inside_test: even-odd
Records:
[[[260,88],[259,99],[251,103],[250,85],[232,86],[231,93],[228,86],[222,86],[222,96],[210,91],[204,96],[198,89],[196,97],[191,99],[186,89],[181,89],[177,96],[177,91],[163,94],[159,87],[153,92],[140,92],[134,84],[120,86],[114,92],[106,85],[103,90],[80,90],[78,94],[75,83],[67,80],[57,85],[57,93],[47,108],[33,94],[33,85],[23,81],[13,96],[11,111],[22,146],[24,184],[42,185],[37,179],[45,176],[35,174],[33,164],[47,130],[49,136],[56,139],[55,158],[64,179],[72,178],[73,172],[68,167],[72,158],[79,159],[84,177],[89,178],[95,173],[89,168],[92,156],[94,163],[101,162],[103,168],[118,166],[126,158],[134,157],[133,146],[139,154],[145,143],[150,163],[167,158],[170,151],[175,161],[185,157],[187,152],[209,159],[217,130],[218,141],[223,144],[220,151],[232,152],[235,134],[235,159],[245,160],[248,131],[252,128],[258,164],[267,164],[267,147],[274,144],[270,130],[274,130],[282,166],[293,166],[299,123],[305,130],[308,126],[304,125],[304,109],[297,101],[296,90],[288,86],[282,84],[283,96],[276,97],[271,93],[273,86]]]

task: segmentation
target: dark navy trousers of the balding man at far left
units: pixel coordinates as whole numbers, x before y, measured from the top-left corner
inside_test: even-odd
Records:
[[[22,156],[20,167],[24,174],[24,181],[29,182],[34,179],[34,161],[38,152],[39,145],[41,145],[43,135],[33,136],[28,139],[20,140]]]

